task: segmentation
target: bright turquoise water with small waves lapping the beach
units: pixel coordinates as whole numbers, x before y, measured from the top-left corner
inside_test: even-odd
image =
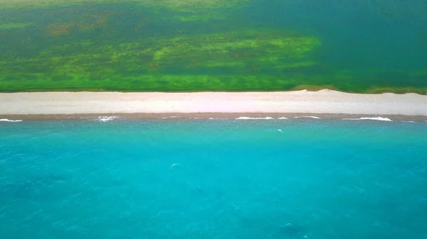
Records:
[[[379,121],[0,122],[0,235],[427,238],[426,135]]]

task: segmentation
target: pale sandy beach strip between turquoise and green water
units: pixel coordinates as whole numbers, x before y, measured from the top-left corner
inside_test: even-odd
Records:
[[[278,92],[0,93],[0,118],[372,118],[427,121],[427,96],[352,94],[329,89]]]

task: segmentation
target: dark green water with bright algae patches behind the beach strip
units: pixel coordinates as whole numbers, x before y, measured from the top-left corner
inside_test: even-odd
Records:
[[[427,92],[426,1],[0,1],[0,91]]]

